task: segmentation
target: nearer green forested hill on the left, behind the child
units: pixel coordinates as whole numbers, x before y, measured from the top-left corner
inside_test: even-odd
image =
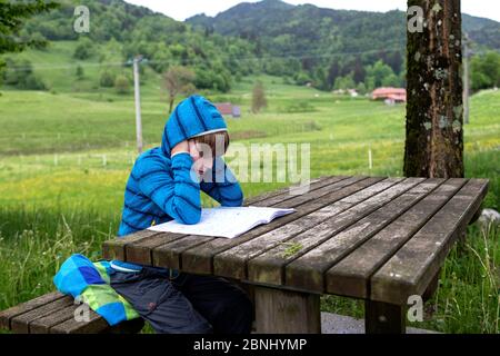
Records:
[[[158,73],[173,65],[186,66],[196,73],[198,88],[220,91],[228,91],[234,79],[259,71],[248,60],[254,52],[248,40],[194,30],[188,23],[122,0],[86,0],[90,31],[77,33],[74,9],[82,1],[57,2],[61,4],[58,9],[30,19],[20,33],[49,40],[48,52],[54,49],[50,43],[56,41],[74,42],[74,59],[99,61],[103,67],[116,62],[117,56],[126,62],[142,55]]]

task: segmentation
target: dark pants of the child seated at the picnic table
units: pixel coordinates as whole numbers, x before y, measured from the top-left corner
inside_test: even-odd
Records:
[[[180,274],[143,267],[116,271],[111,287],[126,298],[157,333],[249,334],[252,304],[234,284],[213,276]]]

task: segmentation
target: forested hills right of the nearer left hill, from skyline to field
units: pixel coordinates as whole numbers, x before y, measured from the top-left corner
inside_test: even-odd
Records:
[[[216,17],[187,19],[196,28],[240,37],[267,57],[263,70],[320,89],[404,86],[406,13],[333,10],[280,0],[239,3]],[[500,23],[462,16],[476,52],[500,49]]]

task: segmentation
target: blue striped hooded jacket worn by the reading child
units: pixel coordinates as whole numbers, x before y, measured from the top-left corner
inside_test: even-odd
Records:
[[[181,101],[164,126],[161,147],[143,152],[133,165],[124,191],[118,236],[172,219],[197,224],[201,217],[200,190],[222,206],[241,206],[241,187],[221,157],[214,157],[212,179],[208,182],[192,178],[193,160],[188,152],[170,155],[171,149],[186,139],[223,130],[227,130],[226,122],[209,100],[191,96]],[[223,175],[216,171],[217,167],[223,167]]]

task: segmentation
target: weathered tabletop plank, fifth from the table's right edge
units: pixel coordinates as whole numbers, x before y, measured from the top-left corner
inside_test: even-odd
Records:
[[[349,187],[338,191],[338,197],[328,206],[300,217],[279,228],[261,235],[250,241],[234,246],[233,248],[214,256],[213,267],[216,275],[232,278],[247,279],[247,261],[293,238],[296,235],[307,231],[323,221],[331,220],[336,215],[367,200],[401,182],[403,178],[388,178],[367,187],[356,194],[349,191]]]

